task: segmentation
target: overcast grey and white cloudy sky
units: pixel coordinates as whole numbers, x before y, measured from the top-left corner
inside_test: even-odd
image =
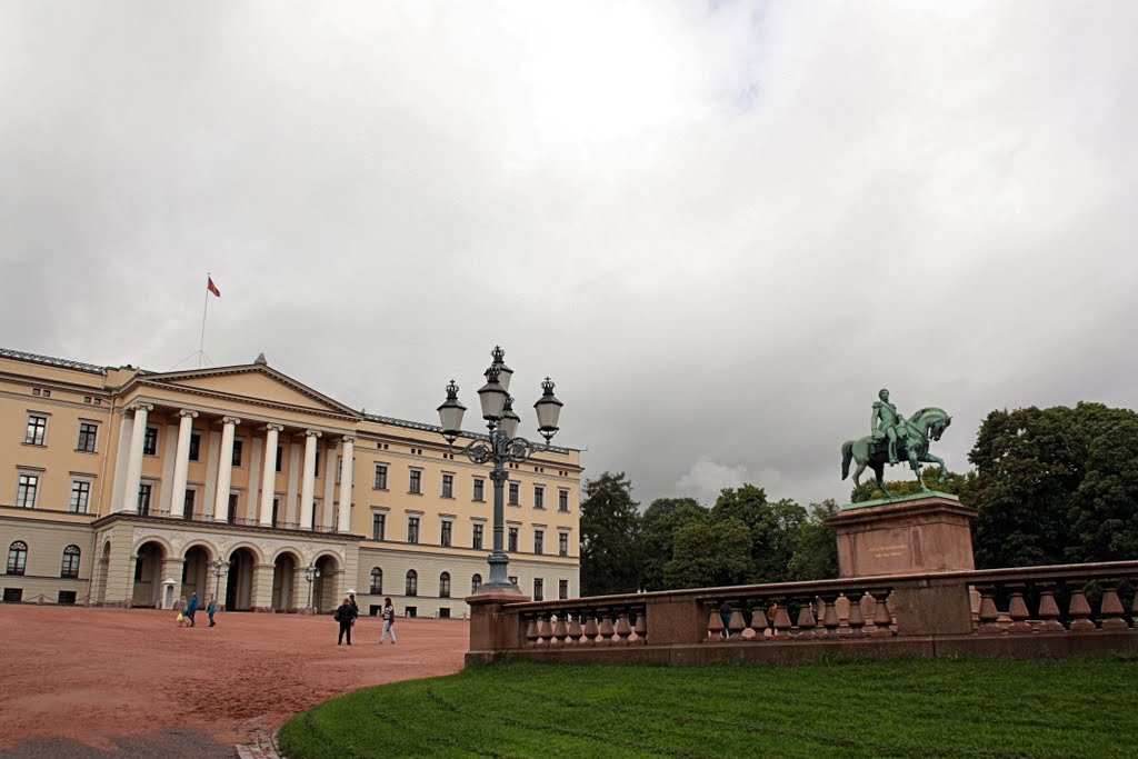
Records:
[[[848,500],[888,387],[1138,407],[1138,3],[0,3],[0,346]],[[468,413],[468,427],[477,416]],[[536,437],[536,434],[533,435]],[[910,475],[900,468],[889,479]]]

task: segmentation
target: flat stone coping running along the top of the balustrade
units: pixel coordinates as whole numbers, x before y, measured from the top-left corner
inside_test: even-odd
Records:
[[[1086,564],[1044,564],[1040,567],[1012,567],[1001,569],[955,569],[940,572],[908,572],[901,575],[871,575],[866,577],[840,577],[827,580],[800,583],[772,583],[768,585],[734,585],[709,588],[683,588],[676,591],[652,591],[649,593],[625,593],[619,595],[592,595],[559,601],[519,601],[502,604],[503,610],[572,611],[579,608],[612,608],[644,605],[650,600],[683,599],[708,601],[731,601],[744,596],[801,596],[820,595],[825,592],[841,593],[843,589],[876,591],[898,585],[910,585],[926,580],[959,580],[967,585],[1008,581],[1040,581],[1063,579],[1108,579],[1138,578],[1138,561],[1102,561]]]

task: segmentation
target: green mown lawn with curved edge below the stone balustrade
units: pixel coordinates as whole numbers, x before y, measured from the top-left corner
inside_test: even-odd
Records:
[[[297,715],[289,759],[1138,757],[1138,660],[511,663]]]

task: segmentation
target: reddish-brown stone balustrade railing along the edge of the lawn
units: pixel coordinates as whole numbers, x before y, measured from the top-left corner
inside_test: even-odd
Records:
[[[536,603],[476,594],[467,599],[468,660],[698,663],[825,654],[1138,653],[1136,585],[1138,561]]]

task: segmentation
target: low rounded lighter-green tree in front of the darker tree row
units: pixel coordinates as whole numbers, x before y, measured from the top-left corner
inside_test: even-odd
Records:
[[[741,585],[753,574],[751,530],[734,517],[692,521],[676,530],[673,558],[665,566],[668,587]]]

